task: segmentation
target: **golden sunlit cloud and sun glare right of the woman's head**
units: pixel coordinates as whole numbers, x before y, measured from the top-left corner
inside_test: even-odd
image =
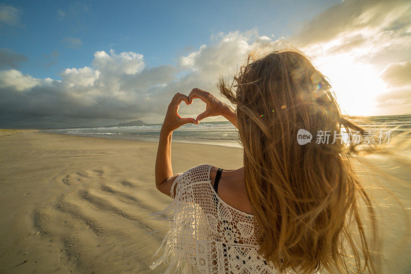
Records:
[[[292,42],[330,78],[348,114],[411,114],[409,85],[393,88],[393,77],[382,73],[411,60],[411,2],[343,1],[308,22]],[[404,71],[398,78],[411,77]]]

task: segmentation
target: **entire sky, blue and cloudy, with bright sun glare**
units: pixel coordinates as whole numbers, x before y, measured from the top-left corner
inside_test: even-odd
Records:
[[[411,114],[410,1],[0,1],[0,128],[161,123],[265,45],[307,54],[345,114]]]

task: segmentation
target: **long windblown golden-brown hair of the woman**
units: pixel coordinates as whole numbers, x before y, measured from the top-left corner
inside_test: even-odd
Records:
[[[333,142],[334,131],[361,128],[343,118],[321,72],[295,49],[252,52],[233,83],[220,79],[218,88],[236,105],[260,254],[280,271],[376,272],[373,206],[350,148]],[[297,143],[300,129],[310,143]],[[315,142],[320,131],[331,133],[328,143]]]

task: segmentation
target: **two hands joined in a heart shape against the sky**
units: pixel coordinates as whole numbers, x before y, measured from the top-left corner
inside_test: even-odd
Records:
[[[193,99],[196,99],[196,98],[206,103],[206,110],[200,113],[196,119],[182,118],[178,114],[178,108],[180,106],[180,103],[184,101],[185,104],[190,105],[193,103]],[[199,88],[194,88],[193,90],[191,90],[191,93],[189,94],[189,96],[185,96],[184,94],[177,93],[173,97],[169,105],[169,108],[167,109],[167,114],[165,115],[165,118],[164,118],[163,128],[168,131],[174,131],[183,124],[187,124],[187,123],[199,124],[199,122],[204,118],[211,117],[211,116],[225,115],[227,112],[230,112],[230,111],[232,110],[227,104],[215,98],[211,93],[201,90]]]

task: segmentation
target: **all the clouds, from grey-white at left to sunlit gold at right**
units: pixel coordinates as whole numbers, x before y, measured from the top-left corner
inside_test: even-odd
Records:
[[[347,0],[285,39],[312,57],[348,114],[409,113],[411,3]],[[218,33],[176,64],[157,67],[138,52],[97,51],[89,66],[66,68],[58,81],[2,61],[10,69],[0,71],[0,127],[161,122],[176,92],[199,87],[217,95],[218,78],[231,78],[249,52],[267,44],[277,42],[256,30]],[[195,117],[203,107],[196,102],[180,113]]]

